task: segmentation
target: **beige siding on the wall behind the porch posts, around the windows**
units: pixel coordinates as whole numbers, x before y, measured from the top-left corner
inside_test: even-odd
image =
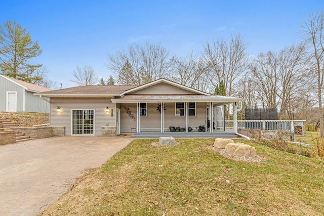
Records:
[[[147,103],[147,116],[140,117],[141,132],[144,131],[160,131],[161,115],[157,109],[158,103]],[[164,130],[170,131],[170,126],[185,127],[185,116],[175,116],[175,103],[165,103],[166,110],[164,111]],[[130,118],[125,110],[128,107],[135,117]],[[121,133],[136,133],[137,125],[137,103],[121,103],[120,104],[120,132]],[[196,103],[196,116],[189,116],[189,126],[193,131],[198,131],[199,125],[207,126],[207,104]],[[134,128],[135,131],[132,131]]]

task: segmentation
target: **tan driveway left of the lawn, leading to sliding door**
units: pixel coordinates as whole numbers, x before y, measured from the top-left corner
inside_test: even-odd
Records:
[[[53,137],[0,146],[0,215],[36,215],[130,137]]]

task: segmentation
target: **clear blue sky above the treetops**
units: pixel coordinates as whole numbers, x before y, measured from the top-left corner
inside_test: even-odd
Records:
[[[109,77],[107,53],[132,42],[160,42],[170,54],[201,53],[206,41],[240,33],[248,53],[279,51],[300,41],[299,24],[324,1],[5,1],[0,23],[11,20],[30,32],[43,50],[48,77],[63,88],[76,65]],[[112,74],[114,76],[114,74]]]

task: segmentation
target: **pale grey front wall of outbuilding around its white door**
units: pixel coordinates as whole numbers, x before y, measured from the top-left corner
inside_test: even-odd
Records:
[[[24,88],[0,76],[0,111],[6,111],[7,92],[17,92],[17,112],[23,112]]]

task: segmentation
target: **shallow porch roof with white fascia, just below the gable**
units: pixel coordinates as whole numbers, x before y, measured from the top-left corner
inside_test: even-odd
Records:
[[[111,101],[113,103],[214,102],[221,106],[244,101],[244,99],[219,95],[126,95],[123,98],[114,98]]]

